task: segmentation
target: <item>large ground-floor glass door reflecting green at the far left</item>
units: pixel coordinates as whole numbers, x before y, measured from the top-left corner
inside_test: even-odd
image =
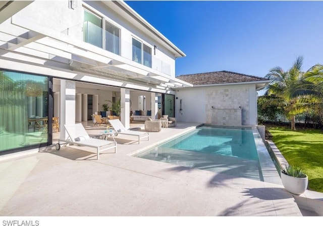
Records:
[[[48,78],[0,70],[0,152],[48,142]]]

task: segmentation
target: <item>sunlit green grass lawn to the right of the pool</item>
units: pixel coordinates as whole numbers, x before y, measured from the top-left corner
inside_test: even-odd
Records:
[[[299,166],[308,175],[308,190],[323,192],[323,133],[317,129],[296,131],[270,127],[273,142],[289,164]]]

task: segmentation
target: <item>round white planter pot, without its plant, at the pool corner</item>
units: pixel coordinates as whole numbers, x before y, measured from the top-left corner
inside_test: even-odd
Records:
[[[284,188],[290,193],[300,195],[303,194],[307,189],[308,177],[299,178],[294,176],[286,175],[281,172],[282,183]]]

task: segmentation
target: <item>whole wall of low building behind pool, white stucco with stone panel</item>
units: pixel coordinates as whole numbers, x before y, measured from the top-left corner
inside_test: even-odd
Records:
[[[178,121],[212,124],[212,122],[214,123],[214,109],[220,109],[222,112],[228,112],[228,114],[229,112],[238,114],[237,111],[241,109],[242,125],[257,124],[255,84],[181,88],[177,90],[176,97],[176,118]],[[182,100],[183,109],[181,112],[180,100]],[[228,120],[228,117],[223,118],[223,120]],[[230,119],[229,117],[229,120],[233,120],[233,118]],[[228,122],[221,122],[219,125],[228,125]]]

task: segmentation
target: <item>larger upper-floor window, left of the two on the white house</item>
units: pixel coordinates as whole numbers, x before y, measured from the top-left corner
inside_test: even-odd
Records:
[[[83,40],[120,55],[120,29],[87,10],[84,10]]]

